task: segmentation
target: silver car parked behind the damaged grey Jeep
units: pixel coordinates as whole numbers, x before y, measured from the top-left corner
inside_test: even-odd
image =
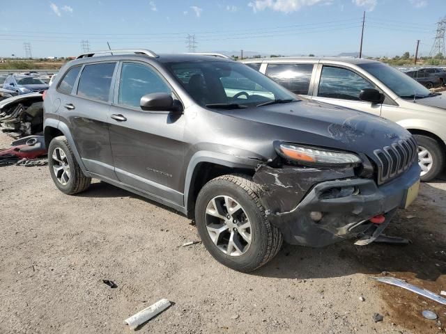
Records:
[[[397,122],[417,139],[422,180],[433,180],[443,170],[446,95],[431,93],[394,67],[359,58],[262,58],[243,63],[302,97]]]

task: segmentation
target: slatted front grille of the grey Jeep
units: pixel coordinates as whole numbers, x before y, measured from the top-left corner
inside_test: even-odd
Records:
[[[409,168],[417,158],[417,142],[413,137],[386,146],[382,150],[374,150],[378,158],[378,184],[383,184],[397,177]]]

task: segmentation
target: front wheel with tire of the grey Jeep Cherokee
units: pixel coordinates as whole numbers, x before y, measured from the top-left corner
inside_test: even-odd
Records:
[[[249,177],[223,175],[205,184],[197,197],[195,221],[204,246],[236,271],[254,271],[282,247],[282,233],[267,220],[260,194]]]

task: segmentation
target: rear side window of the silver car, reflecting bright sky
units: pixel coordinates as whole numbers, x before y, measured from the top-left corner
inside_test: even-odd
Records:
[[[268,64],[266,75],[295,94],[308,94],[313,64]]]

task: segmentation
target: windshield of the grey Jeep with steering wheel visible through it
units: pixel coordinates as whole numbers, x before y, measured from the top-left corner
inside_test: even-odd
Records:
[[[183,62],[167,63],[167,67],[201,106],[232,109],[297,100],[293,93],[241,63]]]

